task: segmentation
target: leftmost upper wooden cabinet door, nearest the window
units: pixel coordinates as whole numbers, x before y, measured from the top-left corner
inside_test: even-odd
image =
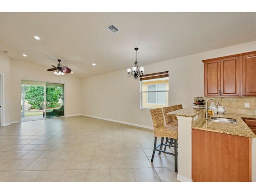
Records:
[[[204,63],[204,95],[220,96],[220,60]]]

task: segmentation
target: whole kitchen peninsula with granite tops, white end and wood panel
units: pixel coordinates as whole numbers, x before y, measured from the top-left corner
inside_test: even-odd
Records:
[[[242,119],[255,115],[216,114],[237,121],[217,123],[206,121],[205,109],[189,107],[168,114],[178,118],[177,180],[256,181],[256,135]]]

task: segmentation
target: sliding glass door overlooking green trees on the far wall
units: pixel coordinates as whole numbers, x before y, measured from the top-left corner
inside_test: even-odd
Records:
[[[21,121],[64,116],[64,84],[22,80]]]

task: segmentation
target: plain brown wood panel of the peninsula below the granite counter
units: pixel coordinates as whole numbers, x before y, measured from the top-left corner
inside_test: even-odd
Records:
[[[252,139],[192,129],[193,182],[251,182]]]

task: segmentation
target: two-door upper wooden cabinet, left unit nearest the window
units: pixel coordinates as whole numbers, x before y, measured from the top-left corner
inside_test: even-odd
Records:
[[[204,62],[204,96],[239,96],[239,57]]]

